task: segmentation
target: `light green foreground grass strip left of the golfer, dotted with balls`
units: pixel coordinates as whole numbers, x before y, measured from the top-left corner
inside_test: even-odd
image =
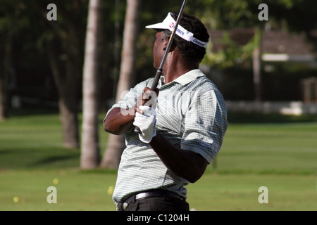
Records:
[[[54,184],[58,179],[58,184]],[[0,210],[116,210],[110,186],[116,174],[85,173],[72,169],[11,171],[0,174]],[[57,203],[47,203],[46,192],[56,187]],[[18,203],[13,198],[18,197]]]

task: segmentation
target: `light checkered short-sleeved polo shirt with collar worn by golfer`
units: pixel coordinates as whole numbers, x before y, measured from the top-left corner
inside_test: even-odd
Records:
[[[137,84],[113,108],[134,108],[137,97],[153,78]],[[223,96],[201,70],[192,70],[173,82],[159,82],[156,105],[156,131],[182,150],[192,150],[209,163],[223,143],[228,127]],[[108,113],[107,113],[108,114]],[[189,181],[163,165],[149,143],[139,140],[132,127],[125,134],[126,148],[121,156],[113,201],[122,203],[133,193],[164,189],[186,198]]]

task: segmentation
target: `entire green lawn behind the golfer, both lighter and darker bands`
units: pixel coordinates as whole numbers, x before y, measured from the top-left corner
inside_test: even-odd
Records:
[[[317,210],[316,119],[282,119],[230,122],[216,160],[187,186],[190,208]],[[101,122],[99,130],[102,155],[108,134]],[[115,210],[116,171],[79,166],[80,150],[61,144],[58,114],[15,115],[0,122],[0,210]],[[56,187],[56,204],[46,201],[50,186]],[[267,204],[259,203],[261,186],[268,188]]]

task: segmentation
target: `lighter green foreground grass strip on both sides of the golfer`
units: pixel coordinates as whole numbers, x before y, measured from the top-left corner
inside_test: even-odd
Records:
[[[56,178],[58,184],[54,184]],[[113,173],[10,171],[1,172],[0,180],[0,210],[116,209],[109,195],[116,182]],[[56,204],[46,201],[49,186],[56,187]],[[261,186],[268,188],[268,204],[258,201]],[[204,174],[196,184],[189,184],[187,191],[189,207],[197,211],[317,210],[313,175]],[[15,197],[18,203],[13,201]]]

